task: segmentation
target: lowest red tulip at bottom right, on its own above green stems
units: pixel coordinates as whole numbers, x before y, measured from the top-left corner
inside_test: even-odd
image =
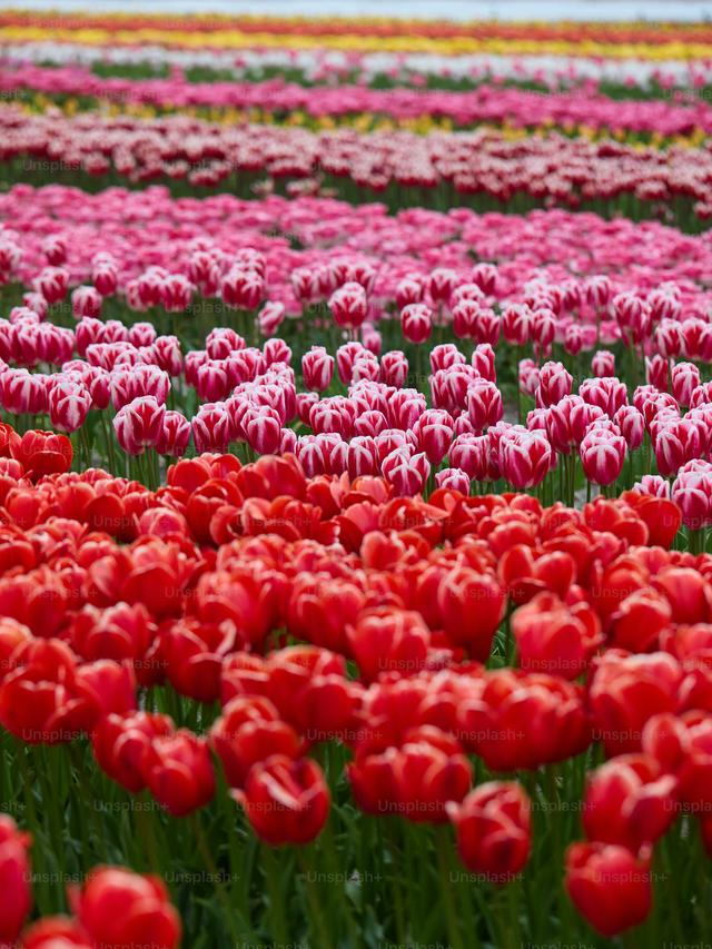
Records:
[[[603,936],[639,926],[652,903],[650,852],[636,857],[615,844],[574,843],[566,852],[566,890]]]

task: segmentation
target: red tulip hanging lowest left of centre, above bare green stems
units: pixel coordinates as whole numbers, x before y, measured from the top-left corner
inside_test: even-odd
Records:
[[[308,843],[329,813],[330,795],[322,769],[310,758],[275,754],[255,764],[236,799],[255,833],[271,847]]]

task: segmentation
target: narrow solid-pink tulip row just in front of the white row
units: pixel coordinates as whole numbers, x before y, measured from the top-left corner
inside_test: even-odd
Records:
[[[314,118],[364,112],[396,120],[424,116],[445,118],[456,126],[506,123],[535,126],[585,126],[593,129],[625,129],[664,138],[712,131],[712,107],[702,98],[690,105],[665,100],[621,101],[591,88],[573,92],[532,92],[515,88],[479,86],[469,92],[414,89],[368,89],[339,83],[334,88],[305,88],[296,83],[188,82],[167,79],[103,78],[73,68],[29,67],[0,70],[6,98],[26,90],[53,97],[91,98],[100,102],[149,105],[161,109],[263,109],[291,117],[301,111]]]

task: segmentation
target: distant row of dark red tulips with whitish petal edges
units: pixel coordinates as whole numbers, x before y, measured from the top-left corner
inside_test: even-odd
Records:
[[[712,152],[698,148],[640,150],[555,134],[510,141],[494,130],[317,135],[273,126],[228,128],[181,116],[150,121],[28,116],[14,106],[0,108],[0,159],[18,179],[41,184],[76,181],[78,174],[99,181],[185,181],[190,189],[233,182],[248,196],[261,177],[263,189],[278,182],[309,194],[329,185],[362,201],[390,189],[394,207],[414,197],[436,206],[599,202],[611,212],[632,206],[637,215],[679,217],[689,228],[710,214]]]

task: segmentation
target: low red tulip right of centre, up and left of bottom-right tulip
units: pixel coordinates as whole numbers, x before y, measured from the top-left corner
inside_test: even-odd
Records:
[[[461,804],[449,804],[463,863],[505,883],[524,868],[532,843],[531,803],[515,782],[491,781],[471,791]]]

